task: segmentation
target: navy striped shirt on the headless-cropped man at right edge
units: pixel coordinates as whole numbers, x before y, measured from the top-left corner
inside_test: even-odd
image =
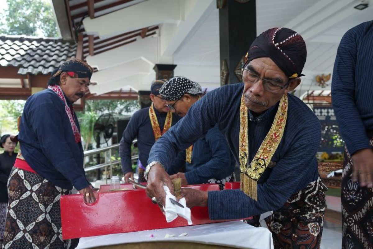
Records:
[[[373,131],[373,21],[351,28],[335,58],[332,104],[348,152],[370,148]]]

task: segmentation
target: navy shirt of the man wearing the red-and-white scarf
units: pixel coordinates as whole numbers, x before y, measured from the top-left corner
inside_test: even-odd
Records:
[[[76,115],[74,119],[80,131]],[[63,189],[74,186],[78,190],[90,185],[83,169],[82,144],[75,143],[65,102],[52,90],[46,89],[28,98],[18,139],[22,155],[31,168],[54,185]]]

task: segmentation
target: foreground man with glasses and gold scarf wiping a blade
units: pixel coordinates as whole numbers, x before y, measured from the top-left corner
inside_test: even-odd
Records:
[[[325,211],[315,157],[321,127],[311,109],[289,94],[300,84],[306,56],[303,38],[291,29],[259,35],[242,68],[244,83],[207,93],[154,144],[148,196],[164,205],[163,185],[173,188],[163,166],[217,125],[240,164],[241,190],[184,188],[187,205],[208,206],[213,220],[273,211],[267,224],[275,248],[318,248]]]

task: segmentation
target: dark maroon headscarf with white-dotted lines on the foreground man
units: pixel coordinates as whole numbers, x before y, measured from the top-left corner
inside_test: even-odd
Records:
[[[270,57],[289,78],[304,76],[307,49],[301,35],[291,29],[271,28],[261,33],[251,44],[245,65],[260,57]]]

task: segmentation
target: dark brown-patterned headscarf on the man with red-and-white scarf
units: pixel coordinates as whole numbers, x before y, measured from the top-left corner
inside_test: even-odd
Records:
[[[60,80],[60,74],[66,72],[70,77],[74,78],[89,78],[91,80],[93,69],[88,63],[72,58],[61,63],[58,68],[51,72],[51,77],[48,80],[48,85],[55,85]]]

